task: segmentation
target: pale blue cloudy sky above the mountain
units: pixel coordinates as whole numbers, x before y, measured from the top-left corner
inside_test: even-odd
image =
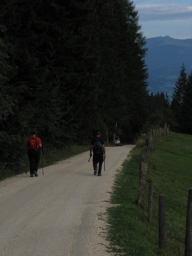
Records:
[[[146,38],[192,38],[192,0],[133,0]]]

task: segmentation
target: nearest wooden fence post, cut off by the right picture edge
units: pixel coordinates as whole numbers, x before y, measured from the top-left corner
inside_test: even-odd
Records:
[[[192,256],[192,188],[189,189],[188,193],[185,256]]]

